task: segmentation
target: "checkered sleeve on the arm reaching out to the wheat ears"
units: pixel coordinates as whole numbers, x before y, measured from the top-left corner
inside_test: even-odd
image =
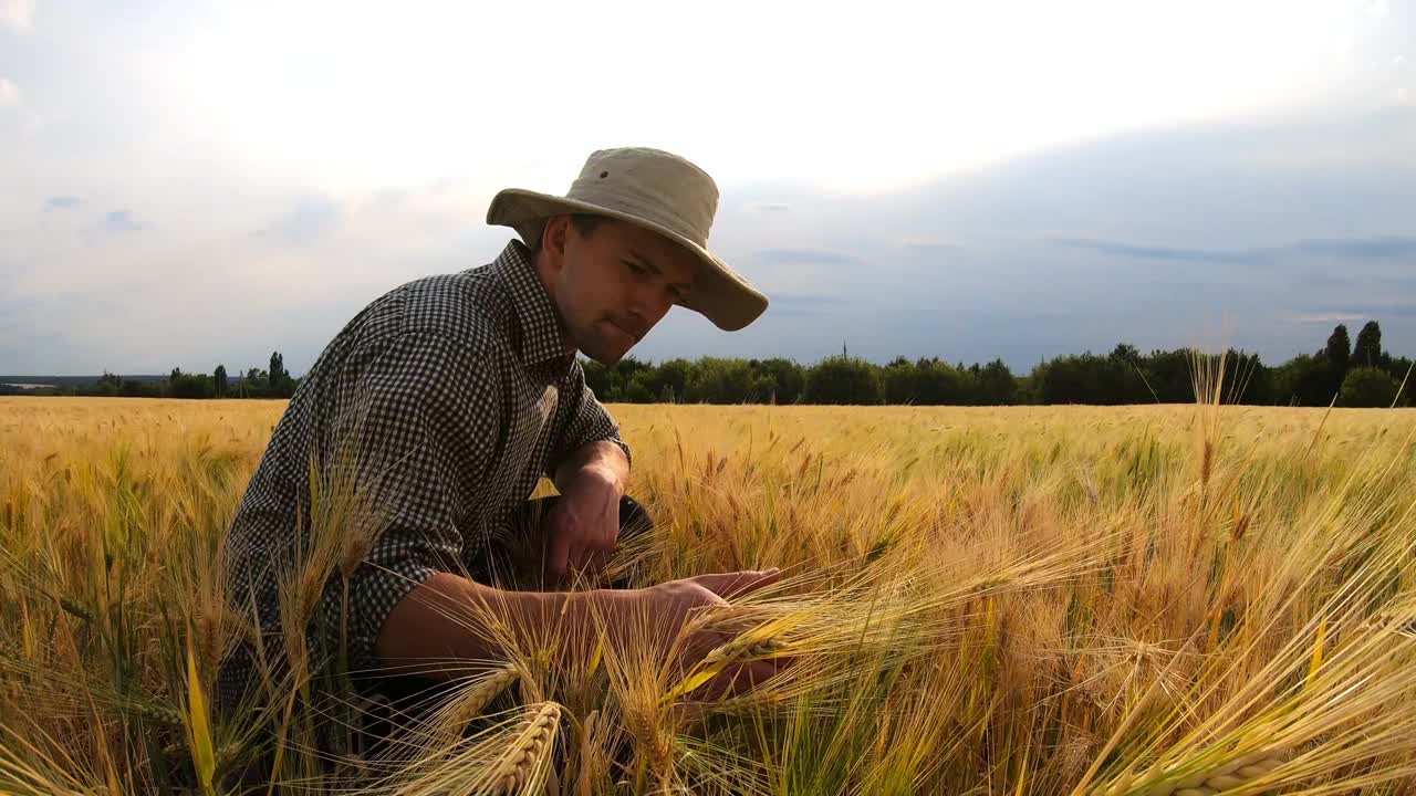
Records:
[[[336,426],[357,440],[358,484],[382,527],[350,578],[351,671],[378,664],[374,640],[395,605],[435,572],[457,568],[456,520],[479,500],[501,422],[497,384],[497,368],[466,344],[412,333],[382,341],[343,390],[341,404],[354,411]],[[327,633],[341,612],[343,589],[327,589]]]

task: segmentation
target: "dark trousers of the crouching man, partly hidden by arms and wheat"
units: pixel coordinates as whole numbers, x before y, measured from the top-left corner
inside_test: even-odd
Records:
[[[513,535],[517,542],[511,548],[489,547],[484,559],[479,561],[479,571],[473,572],[473,578],[497,588],[545,591],[538,588],[542,585],[541,572],[545,555],[542,521],[556,500],[559,497],[528,500],[513,518]],[[619,521],[622,544],[654,530],[654,521],[649,511],[629,496],[620,499]],[[622,572],[606,585],[607,588],[630,588],[630,581],[632,576]],[[445,695],[455,684],[416,674],[391,674],[361,678],[357,687],[361,693],[362,710],[360,712],[362,715],[357,734],[361,748],[355,751],[381,756],[387,741],[395,739],[405,728],[419,724],[423,717],[443,703]]]

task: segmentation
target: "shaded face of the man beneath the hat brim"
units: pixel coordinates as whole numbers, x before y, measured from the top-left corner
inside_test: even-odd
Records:
[[[541,238],[541,279],[566,343],[615,364],[692,290],[695,258],[649,229],[600,218],[589,235],[561,215]]]

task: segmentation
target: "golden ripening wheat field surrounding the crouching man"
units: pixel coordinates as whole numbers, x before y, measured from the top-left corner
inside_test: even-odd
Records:
[[[510,650],[389,762],[321,759],[299,673],[211,710],[251,632],[222,531],[282,409],[0,398],[0,792],[1416,785],[1410,411],[612,406],[658,525],[624,561],[780,567],[704,618],[752,630],[690,673]],[[792,666],[704,697],[743,657]]]

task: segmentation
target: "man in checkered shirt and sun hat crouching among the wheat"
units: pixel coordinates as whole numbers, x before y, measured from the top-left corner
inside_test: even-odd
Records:
[[[649,643],[668,654],[690,612],[776,579],[767,571],[639,589],[524,588],[596,576],[622,528],[649,524],[624,494],[629,448],[586,388],[576,351],[616,363],[674,305],[724,330],[767,306],[705,248],[716,201],[712,178],[678,156],[596,152],[564,197],[493,198],[487,222],[524,242],[483,268],[404,285],[338,333],[280,418],[232,521],[228,593],[238,610],[255,610],[262,632],[222,666],[228,708],[292,666],[312,680],[334,667],[413,667],[430,681],[464,673],[459,661],[504,657],[494,635],[476,632],[474,606],[528,636],[600,618],[612,643],[630,643],[633,619],[653,610],[664,632]],[[528,503],[542,474],[559,499]],[[377,535],[368,513],[331,508],[350,494],[378,510]],[[508,572],[510,551],[527,542],[539,552],[537,571]],[[319,579],[302,581],[302,567],[321,561]],[[704,633],[684,654],[724,640]],[[568,639],[566,654],[589,650]],[[750,666],[753,677],[770,674],[763,661]]]

